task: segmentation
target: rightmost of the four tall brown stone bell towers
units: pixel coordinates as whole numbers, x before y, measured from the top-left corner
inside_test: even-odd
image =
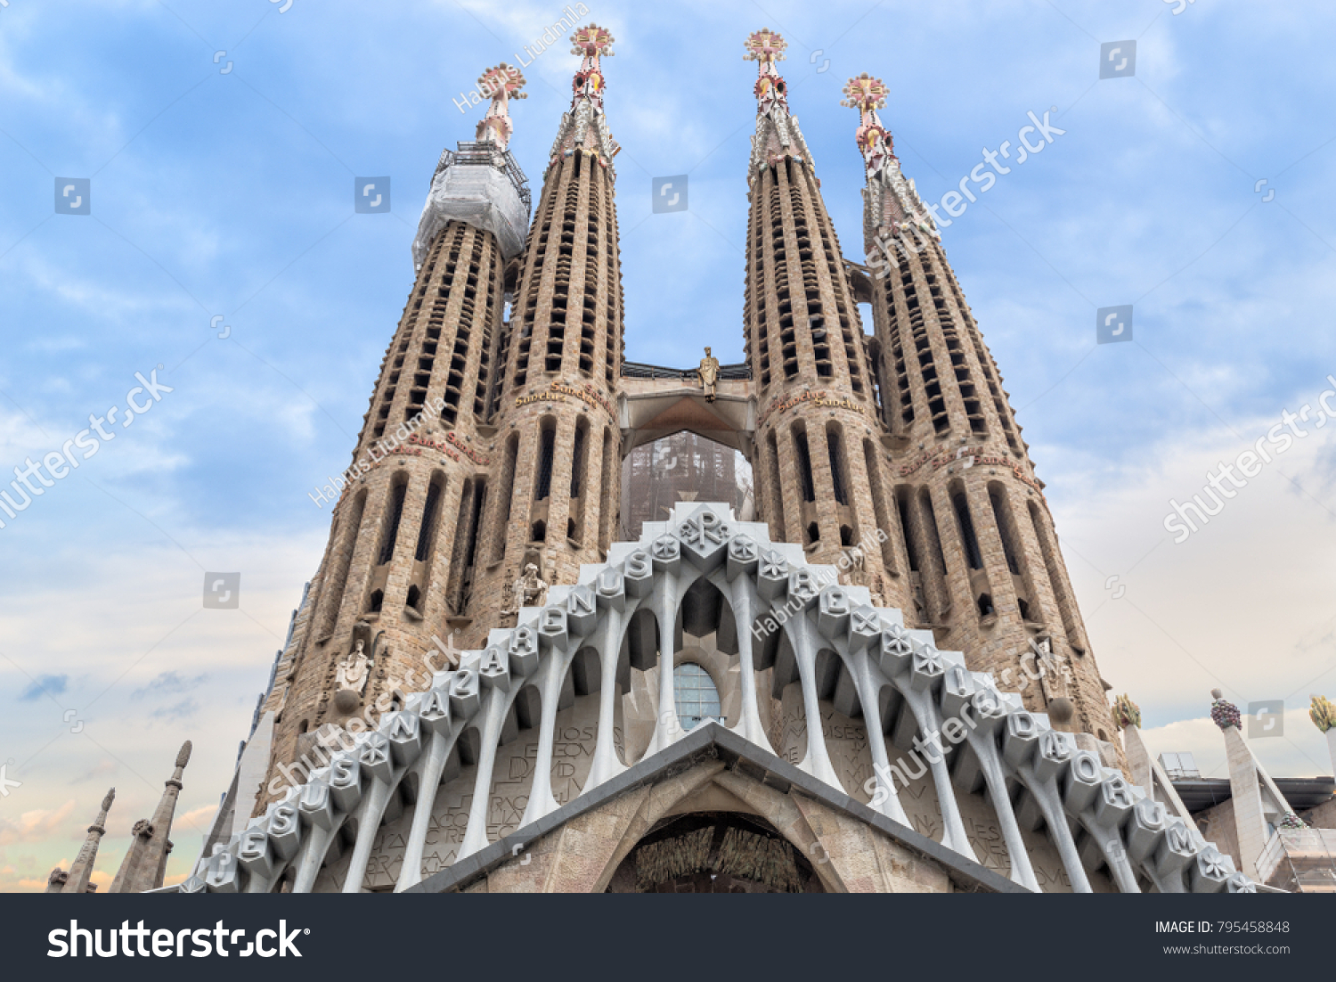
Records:
[[[896,464],[887,508],[904,529],[911,584],[906,623],[1021,688],[1026,708],[1113,742],[1043,482],[937,224],[878,116],[887,94],[864,72],[848,80],[843,106],[859,114],[875,371]]]

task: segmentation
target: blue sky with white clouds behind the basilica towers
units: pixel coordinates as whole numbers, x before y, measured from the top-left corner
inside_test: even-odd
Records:
[[[790,104],[850,258],[850,75],[888,84],[883,122],[930,200],[1051,112],[1066,132],[943,242],[1049,485],[1104,676],[1141,703],[1154,750],[1216,774],[1209,689],[1285,699],[1284,739],[1255,748],[1277,774],[1329,774],[1304,711],[1309,692],[1336,696],[1336,428],[1186,542],[1162,520],[1336,373],[1336,12],[1176,5],[588,4],[617,39],[627,350],[741,359],[751,31],[788,39]],[[436,160],[480,116],[453,99],[561,16],[530,0],[279,7],[0,8],[0,468],[124,407],[135,373],[162,365],[172,387],[0,529],[0,764],[23,782],[0,799],[3,890],[68,864],[111,784],[114,872],[187,738],[172,875],[196,855],[319,561],[329,514],[307,492],[349,464]],[[1101,43],[1133,39],[1136,75],[1100,80]],[[525,68],[512,148],[532,180],[576,63],[562,41]],[[652,214],[652,178],[677,174],[691,210]],[[393,212],[353,214],[354,178],[379,175]],[[91,179],[91,215],[53,214],[56,178]],[[1124,303],[1134,342],[1097,346],[1097,307]],[[216,570],[240,570],[239,609],[202,609]]]

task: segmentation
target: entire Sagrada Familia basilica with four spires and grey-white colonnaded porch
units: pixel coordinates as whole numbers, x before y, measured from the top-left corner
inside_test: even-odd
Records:
[[[572,41],[536,210],[517,68],[484,72],[476,139],[437,166],[329,546],[172,888],[1267,888],[1267,823],[1304,823],[1221,709],[1238,779],[1208,840],[1110,700],[886,86],[844,87],[856,263],[784,40],[747,39],[747,361],[665,369],[624,354],[613,39]],[[683,432],[754,493],[684,492],[616,541],[624,460]],[[187,756],[116,888],[160,888]]]

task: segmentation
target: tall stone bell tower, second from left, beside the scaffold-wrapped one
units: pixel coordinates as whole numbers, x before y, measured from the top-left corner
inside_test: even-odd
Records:
[[[542,179],[521,257],[510,318],[494,365],[496,493],[482,509],[472,611],[513,617],[514,584],[537,566],[545,583],[574,583],[607,556],[617,528],[621,436],[615,416],[623,357],[616,170],[620,147],[604,112],[603,59],[613,37],[597,24],[570,37],[580,67]]]

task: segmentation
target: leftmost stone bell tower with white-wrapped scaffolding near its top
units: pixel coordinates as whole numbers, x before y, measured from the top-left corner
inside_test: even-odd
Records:
[[[262,707],[262,717],[273,712],[273,760],[285,766],[311,758],[325,724],[374,725],[414,677],[442,665],[434,639],[474,607],[494,457],[490,358],[529,224],[528,182],[508,150],[509,103],[524,84],[505,63],[482,72],[490,104],[477,139],[446,150],[432,178],[413,291],[342,493],[330,489],[329,545]],[[289,767],[285,783],[318,763]]]

